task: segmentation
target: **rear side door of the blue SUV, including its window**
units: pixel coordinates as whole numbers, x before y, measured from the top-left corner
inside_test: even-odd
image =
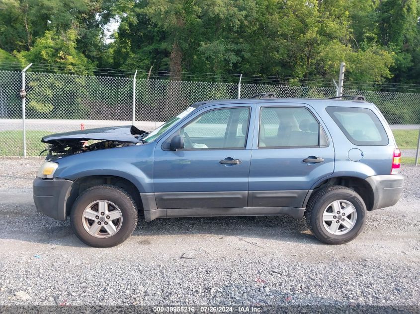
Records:
[[[334,172],[326,127],[306,104],[258,110],[250,166],[250,207],[302,207],[309,189]]]

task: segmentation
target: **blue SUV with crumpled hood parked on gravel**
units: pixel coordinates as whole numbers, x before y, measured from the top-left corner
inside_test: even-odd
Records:
[[[116,126],[48,135],[36,208],[70,216],[76,235],[112,247],[156,218],[289,215],[327,244],[394,205],[401,154],[363,97],[199,102],[152,132]]]

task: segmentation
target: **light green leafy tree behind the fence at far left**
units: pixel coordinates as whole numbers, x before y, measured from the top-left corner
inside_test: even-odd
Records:
[[[76,41],[75,30],[69,30],[61,36],[46,31],[30,51],[20,52],[17,56],[26,64],[45,63],[44,70],[55,73],[91,74],[92,64],[76,50]],[[29,72],[28,115],[61,119],[82,117],[86,111],[82,103],[82,95],[86,93],[85,80],[85,76],[37,75]]]

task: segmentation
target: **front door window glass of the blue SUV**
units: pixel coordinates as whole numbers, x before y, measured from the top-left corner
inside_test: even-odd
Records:
[[[181,127],[177,134],[184,138],[184,149],[243,148],[249,120],[249,108],[211,110]]]

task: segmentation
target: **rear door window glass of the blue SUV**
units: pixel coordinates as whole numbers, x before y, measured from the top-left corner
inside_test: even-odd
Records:
[[[263,107],[258,147],[327,146],[328,139],[312,113],[303,107]]]

